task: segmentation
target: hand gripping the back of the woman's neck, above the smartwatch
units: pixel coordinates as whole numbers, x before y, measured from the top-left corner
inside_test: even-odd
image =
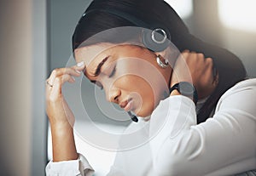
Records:
[[[212,58],[186,50],[177,58],[170,86],[177,82],[190,82],[195,86],[198,98],[202,99],[212,94],[218,84],[217,80],[218,76],[213,77]]]

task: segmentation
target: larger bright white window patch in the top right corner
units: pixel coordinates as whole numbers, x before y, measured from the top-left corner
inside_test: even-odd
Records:
[[[224,26],[256,31],[255,0],[218,0],[218,15]]]

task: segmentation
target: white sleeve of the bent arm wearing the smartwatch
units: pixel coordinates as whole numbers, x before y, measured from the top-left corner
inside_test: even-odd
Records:
[[[255,169],[255,97],[255,88],[234,91],[198,125],[191,99],[176,95],[161,101],[149,131],[157,131],[150,141],[154,174],[230,175]]]

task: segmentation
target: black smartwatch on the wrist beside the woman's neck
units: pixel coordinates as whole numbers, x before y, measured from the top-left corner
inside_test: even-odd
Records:
[[[182,94],[183,96],[193,98],[193,101],[196,105],[197,100],[198,100],[198,95],[195,87],[193,84],[189,82],[178,82],[172,86],[172,88],[169,89],[170,94],[172,93],[173,90],[177,90],[179,94]]]

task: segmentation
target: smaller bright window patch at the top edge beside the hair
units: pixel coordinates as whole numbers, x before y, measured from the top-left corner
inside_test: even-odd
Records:
[[[192,0],[166,0],[166,3],[169,3],[183,19],[188,18],[193,12]]]

